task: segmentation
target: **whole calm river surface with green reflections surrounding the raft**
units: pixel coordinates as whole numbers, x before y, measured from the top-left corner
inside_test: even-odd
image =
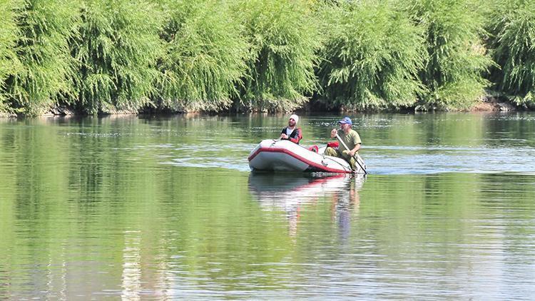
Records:
[[[251,174],[282,115],[0,120],[0,299],[535,296],[535,114],[352,117],[366,179]]]

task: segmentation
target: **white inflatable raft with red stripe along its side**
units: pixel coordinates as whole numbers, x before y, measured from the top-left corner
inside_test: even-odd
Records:
[[[358,170],[353,171],[346,160],[323,155],[324,152],[325,147],[316,153],[287,140],[267,139],[260,142],[249,154],[249,167],[253,171],[365,173],[359,164]],[[362,160],[359,163],[366,168]]]

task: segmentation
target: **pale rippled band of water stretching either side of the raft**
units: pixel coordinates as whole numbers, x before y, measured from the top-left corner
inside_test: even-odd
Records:
[[[247,157],[255,148],[251,143],[229,141],[214,148],[212,144],[138,146],[158,153],[160,163],[195,168],[250,170]],[[505,173],[535,174],[535,148],[456,148],[366,146],[360,151],[368,173],[378,175],[430,173]]]

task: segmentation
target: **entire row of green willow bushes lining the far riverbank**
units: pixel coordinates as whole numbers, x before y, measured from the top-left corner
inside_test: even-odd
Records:
[[[533,16],[524,0],[0,0],[0,111],[535,108]]]

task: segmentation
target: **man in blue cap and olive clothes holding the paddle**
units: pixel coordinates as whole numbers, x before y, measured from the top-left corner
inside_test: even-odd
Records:
[[[336,134],[338,134],[338,136],[340,136],[340,139],[344,141],[345,145],[349,149],[346,149],[344,147],[344,143],[340,143],[338,148],[327,147],[325,149],[325,155],[343,158],[350,163],[352,170],[357,170],[355,153],[358,153],[358,151],[360,150],[360,146],[362,145],[359,133],[352,129],[353,123],[351,121],[351,118],[347,116],[344,117],[341,121],[338,121],[338,123],[340,124],[340,129],[336,130],[335,128],[333,128],[331,131],[331,138],[335,138]]]

